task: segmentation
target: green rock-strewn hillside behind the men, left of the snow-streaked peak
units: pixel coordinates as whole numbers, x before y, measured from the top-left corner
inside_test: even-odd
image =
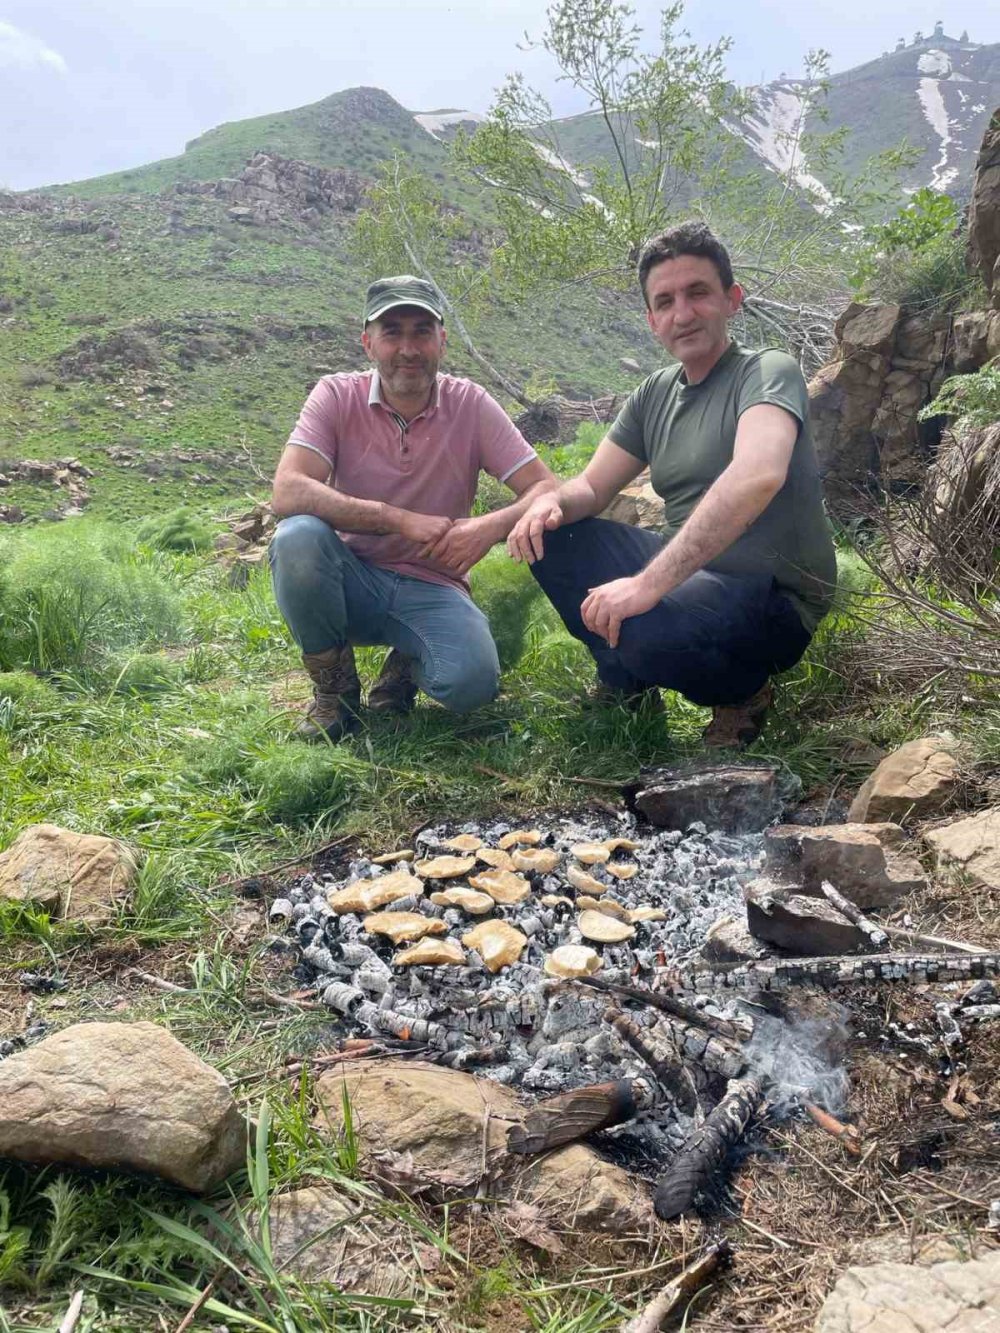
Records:
[[[91,509],[119,516],[260,495],[317,376],[364,364],[372,275],[351,229],[393,153],[473,220],[484,213],[435,135],[369,88],[221,125],[179,157],[115,176],[0,193],[8,516],[76,505],[25,459],[77,459],[93,473]],[[643,372],[659,364],[632,297],[493,308],[475,333],[515,379],[579,397],[631,388],[623,357]],[[449,365],[476,373],[457,339]]]

